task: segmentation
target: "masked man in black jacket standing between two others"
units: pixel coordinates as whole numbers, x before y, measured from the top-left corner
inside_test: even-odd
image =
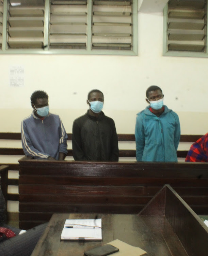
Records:
[[[115,123],[101,111],[103,102],[101,91],[90,91],[87,96],[90,109],[74,120],[72,148],[77,161],[118,161]]]

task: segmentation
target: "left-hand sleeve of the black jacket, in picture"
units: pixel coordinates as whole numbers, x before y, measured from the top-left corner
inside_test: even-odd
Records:
[[[80,127],[76,122],[73,123],[72,128],[72,150],[73,157],[76,161],[87,161],[84,151],[82,150],[82,138]]]

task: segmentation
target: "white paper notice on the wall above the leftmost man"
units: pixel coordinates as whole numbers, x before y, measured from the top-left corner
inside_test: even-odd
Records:
[[[10,87],[24,87],[25,72],[23,66],[10,67]]]

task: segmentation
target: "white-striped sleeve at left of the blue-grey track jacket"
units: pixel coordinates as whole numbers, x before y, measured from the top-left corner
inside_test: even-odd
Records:
[[[48,159],[50,157],[49,154],[40,152],[36,148],[34,148],[28,134],[27,126],[24,121],[22,121],[21,123],[21,140],[22,148],[26,156],[31,156],[35,159]]]

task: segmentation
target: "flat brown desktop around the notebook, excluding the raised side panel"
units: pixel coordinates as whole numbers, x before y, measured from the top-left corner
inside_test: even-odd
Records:
[[[146,255],[187,256],[164,216],[98,214],[98,218],[102,218],[102,241],[60,240],[65,219],[94,217],[95,214],[53,214],[31,256],[83,256],[85,250],[115,239],[142,248],[148,252]]]

